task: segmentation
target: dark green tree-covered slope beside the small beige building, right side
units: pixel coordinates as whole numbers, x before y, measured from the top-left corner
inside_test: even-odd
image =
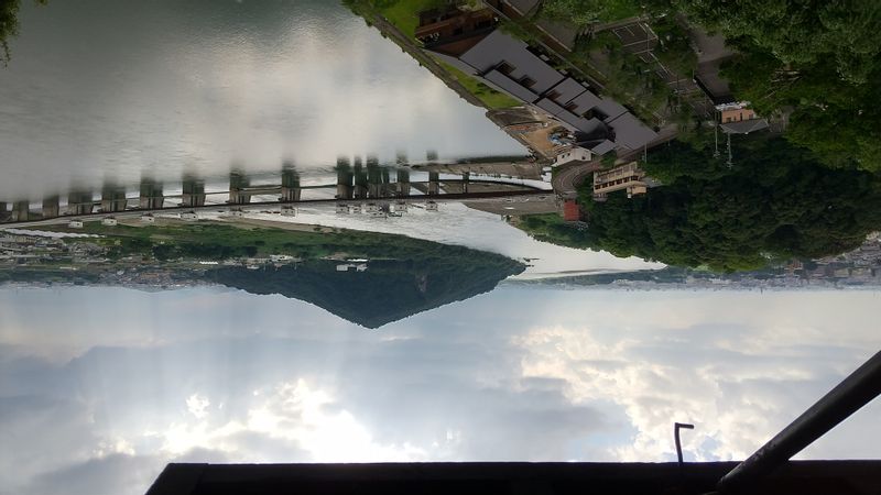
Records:
[[[733,272],[838,254],[881,228],[881,178],[822,166],[779,138],[750,138],[737,140],[731,168],[709,147],[673,142],[644,165],[664,187],[632,199],[613,193],[606,202],[592,202],[584,187],[589,228],[545,229],[536,238]]]

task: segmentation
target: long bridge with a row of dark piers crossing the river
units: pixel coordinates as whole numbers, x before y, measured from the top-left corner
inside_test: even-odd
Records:
[[[93,190],[72,190],[66,195],[65,205],[61,201],[61,195],[52,195],[43,198],[42,208],[36,210],[31,208],[30,200],[0,202],[0,226],[28,227],[157,212],[196,213],[200,210],[230,211],[270,207],[281,208],[284,212],[308,205],[392,200],[479,201],[552,194],[550,187],[545,189],[491,177],[474,177],[469,173],[464,173],[458,178],[442,178],[439,173],[429,172],[427,180],[413,182],[409,168],[381,167],[370,163],[363,167],[358,162],[355,166],[339,162],[336,173],[336,183],[303,185],[300,174],[292,167],[285,167],[280,182],[252,185],[246,174],[231,172],[228,188],[214,191],[206,191],[205,180],[185,176],[180,183],[180,194],[165,194],[163,184],[144,178],[139,185],[138,196],[130,196],[123,186],[108,184],[101,188],[100,198],[96,198]],[[304,199],[304,190],[329,190],[334,193],[334,197]]]

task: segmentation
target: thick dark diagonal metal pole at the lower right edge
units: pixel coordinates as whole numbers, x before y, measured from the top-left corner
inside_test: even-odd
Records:
[[[881,394],[881,352],[841,381],[749,459],[722,476],[716,488],[722,493],[736,493],[749,488],[751,483],[826,435],[879,394]]]

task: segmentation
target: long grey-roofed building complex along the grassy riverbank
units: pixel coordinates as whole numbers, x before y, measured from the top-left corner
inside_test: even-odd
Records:
[[[626,107],[557,70],[547,55],[498,30],[494,20],[487,25],[482,12],[421,18],[416,37],[435,57],[585,136],[585,147],[595,154],[639,150],[657,138]]]

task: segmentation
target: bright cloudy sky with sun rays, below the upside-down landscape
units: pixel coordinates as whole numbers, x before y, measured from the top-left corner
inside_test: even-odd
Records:
[[[379,330],[217,287],[0,289],[0,493],[170,461],[741,459],[881,348],[871,292],[502,285]],[[47,310],[51,309],[51,310]],[[803,453],[879,458],[878,400]]]

